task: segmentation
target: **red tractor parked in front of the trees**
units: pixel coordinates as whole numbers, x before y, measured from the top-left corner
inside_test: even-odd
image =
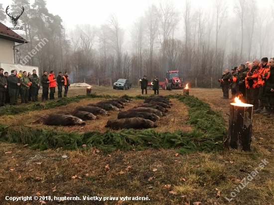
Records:
[[[179,71],[167,71],[164,82],[164,89],[171,91],[173,88],[183,89],[184,81],[179,78]]]

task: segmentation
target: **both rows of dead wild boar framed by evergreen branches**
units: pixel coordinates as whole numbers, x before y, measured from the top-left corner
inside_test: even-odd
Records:
[[[125,103],[132,101],[130,98],[121,97],[108,101],[101,101],[87,106],[77,106],[72,111],[59,111],[54,114],[43,115],[31,123],[43,123],[46,125],[83,125],[85,120],[98,119],[98,115],[110,115],[108,111],[120,111],[118,118],[109,119],[105,127],[112,129],[144,129],[157,127],[154,122],[166,115],[172,105],[169,99],[163,96],[147,98],[143,104],[137,105],[127,111],[121,111]]]

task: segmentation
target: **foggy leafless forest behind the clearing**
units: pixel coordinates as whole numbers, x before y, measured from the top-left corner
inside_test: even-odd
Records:
[[[106,16],[100,27],[78,24],[65,29],[62,18],[48,12],[45,0],[13,0],[11,9],[24,14],[18,24],[23,26],[25,39],[20,46],[17,62],[40,41],[49,42],[26,65],[43,70],[68,71],[71,80],[108,84],[118,78],[137,79],[158,76],[162,81],[167,70],[179,70],[184,81],[199,87],[209,87],[226,68],[254,58],[272,57],[274,15],[272,4],[260,8],[259,0],[235,0],[233,10],[227,0],[212,0],[211,10],[204,10],[185,0],[182,8],[171,0],[148,6],[130,30],[121,27],[115,13]],[[5,22],[5,8],[0,4],[0,21]],[[183,23],[183,29],[178,29]],[[124,34],[131,34],[131,48],[125,48]],[[181,36],[180,39],[174,37]],[[18,48],[18,47],[17,47]]]

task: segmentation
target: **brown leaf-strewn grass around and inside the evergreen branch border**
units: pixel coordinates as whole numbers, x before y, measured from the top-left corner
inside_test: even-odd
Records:
[[[68,97],[85,95],[85,89],[72,88]],[[122,96],[137,96],[139,89],[113,90],[93,87],[93,93]],[[152,94],[153,91],[148,91]],[[182,94],[182,91],[160,90],[160,95]],[[221,89],[190,89],[190,95],[209,103],[218,110],[228,124],[229,100],[222,100]],[[103,99],[82,100],[48,110],[25,112],[18,115],[3,115],[0,123],[23,124],[46,129],[84,132],[106,131],[108,118],[87,121],[85,126],[49,127],[30,125],[39,116],[60,110],[72,110],[75,106],[96,103]],[[181,129],[190,131],[185,124],[188,119],[187,106],[175,99],[168,115],[157,121],[158,131]],[[124,109],[129,109],[143,100],[134,100]],[[23,105],[19,105],[23,106]],[[3,205],[274,205],[274,126],[273,119],[254,114],[253,141],[251,152],[223,150],[217,153],[193,153],[177,155],[173,149],[152,149],[144,151],[116,151],[103,153],[95,147],[86,151],[29,150],[22,144],[0,142],[0,202]],[[5,154],[6,153],[6,154]],[[62,158],[63,155],[68,156]],[[258,171],[249,184],[243,188],[239,181],[248,177],[261,160],[269,163]],[[77,175],[77,176],[75,176]],[[74,178],[74,179],[73,179]],[[241,186],[243,189],[238,188]],[[236,191],[234,191],[236,189]],[[231,202],[231,192],[237,194]],[[81,201],[48,201],[40,203],[5,201],[5,196],[53,196],[75,197]],[[233,194],[232,194],[233,195]],[[83,201],[82,196],[97,197],[148,197],[148,201],[118,200]]]

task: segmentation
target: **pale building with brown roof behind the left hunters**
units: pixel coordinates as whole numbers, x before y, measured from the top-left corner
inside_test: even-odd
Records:
[[[36,66],[23,66],[16,65],[15,57],[15,43],[24,44],[27,43],[23,37],[15,33],[13,30],[8,30],[7,26],[0,22],[0,68],[4,69],[4,72],[8,72],[13,69],[19,71],[26,71],[32,74],[32,70],[36,70],[36,74],[39,76],[39,69]]]

